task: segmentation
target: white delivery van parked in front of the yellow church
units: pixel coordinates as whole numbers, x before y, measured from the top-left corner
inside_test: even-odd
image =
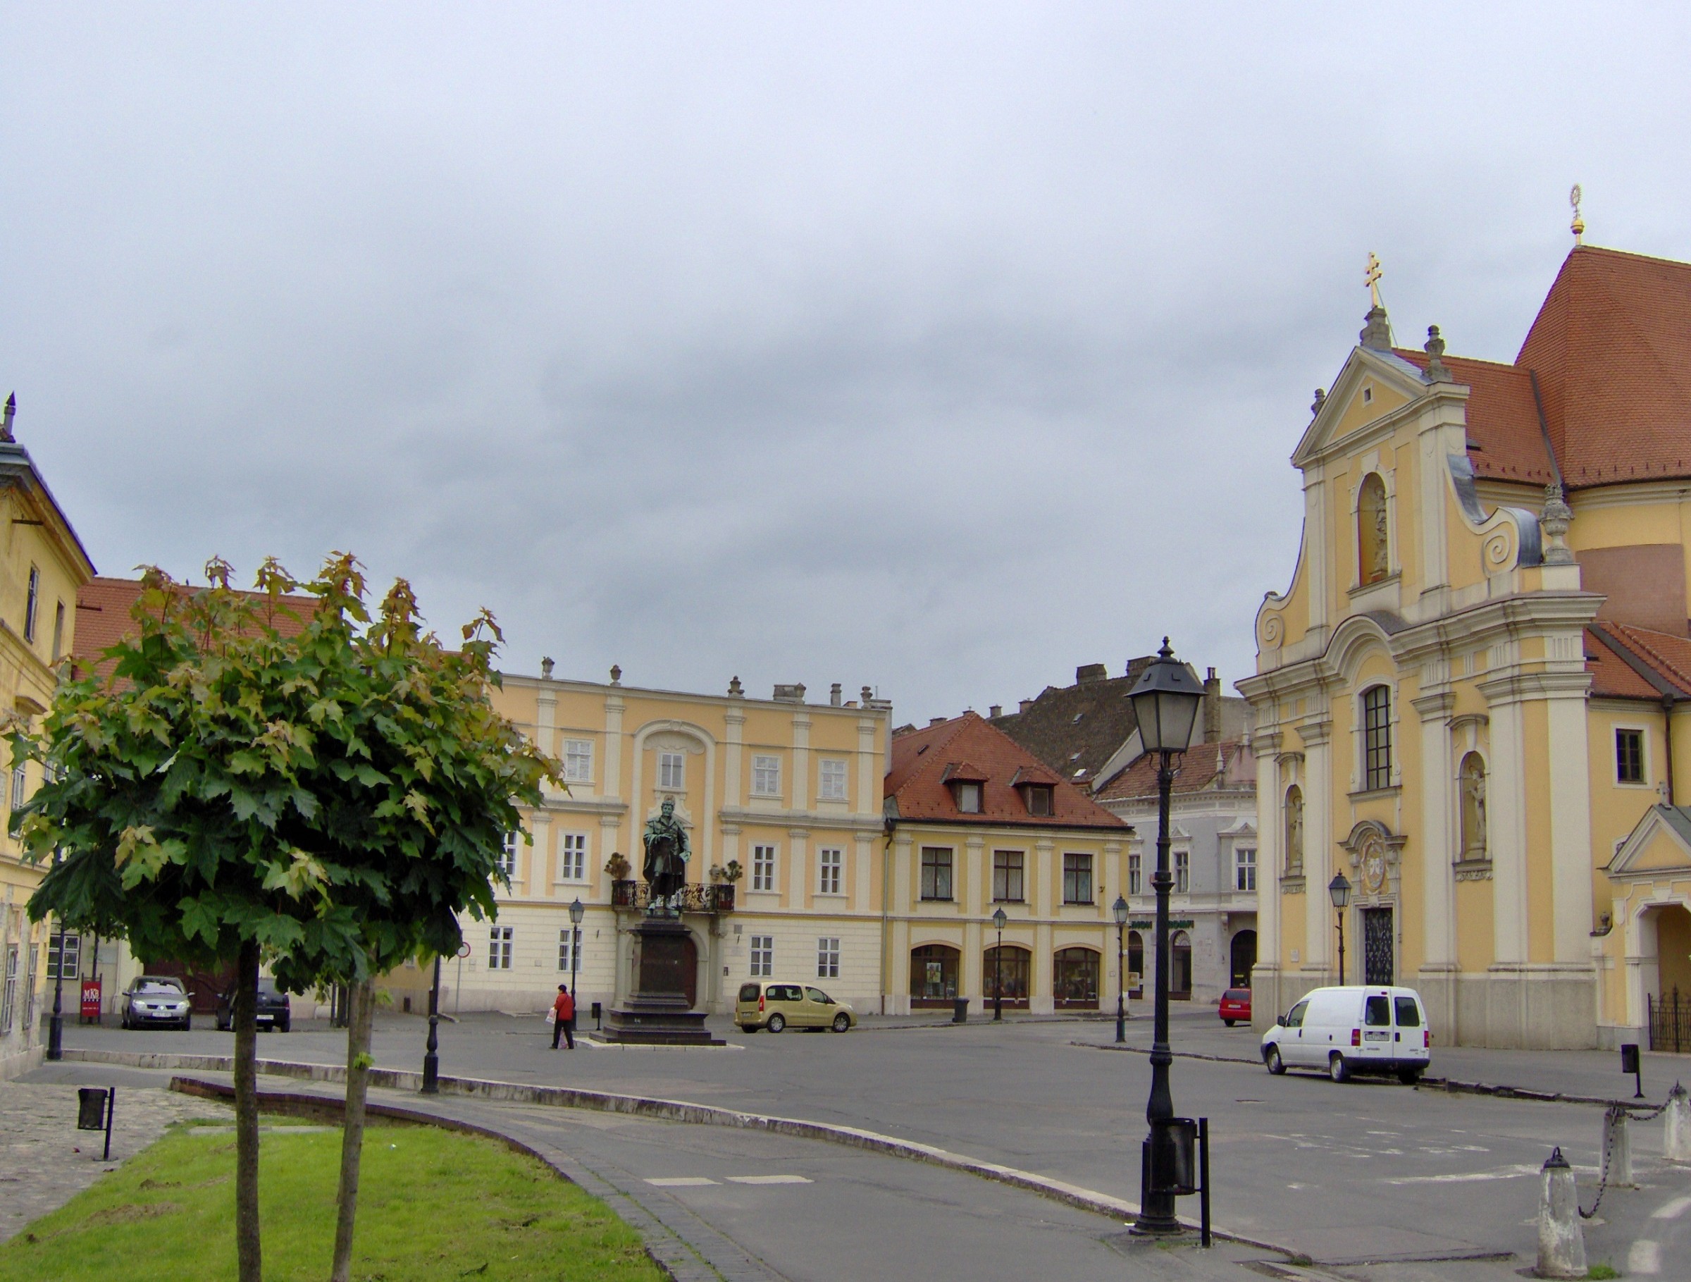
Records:
[[[1268,1072],[1393,1074],[1412,1086],[1432,1059],[1432,1030],[1414,988],[1317,988],[1263,1033],[1261,1054]]]

